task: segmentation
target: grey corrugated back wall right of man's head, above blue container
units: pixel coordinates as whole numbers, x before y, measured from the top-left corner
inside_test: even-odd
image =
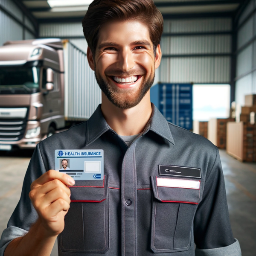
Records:
[[[159,80],[230,83],[231,30],[230,18],[164,20]]]

